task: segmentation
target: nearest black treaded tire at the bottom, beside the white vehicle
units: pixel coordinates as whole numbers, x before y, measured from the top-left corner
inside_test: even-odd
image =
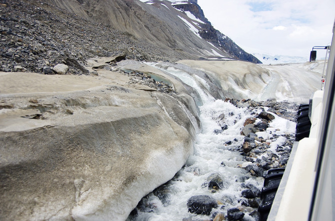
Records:
[[[273,201],[275,199],[279,184],[283,178],[285,168],[276,168],[268,171],[264,178],[264,186],[261,193],[261,204],[258,207],[260,221],[268,219]]]

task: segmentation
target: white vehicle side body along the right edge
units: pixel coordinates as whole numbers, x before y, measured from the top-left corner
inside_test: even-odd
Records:
[[[294,144],[268,221],[335,220],[334,28],[325,90],[310,103],[310,135]]]

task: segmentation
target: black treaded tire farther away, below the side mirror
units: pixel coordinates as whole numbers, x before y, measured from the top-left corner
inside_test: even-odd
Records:
[[[311,130],[311,120],[308,115],[309,105],[301,105],[298,110],[297,126],[296,126],[296,141],[305,137],[309,137]]]

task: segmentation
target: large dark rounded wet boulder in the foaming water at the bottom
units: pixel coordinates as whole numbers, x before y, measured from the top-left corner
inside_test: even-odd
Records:
[[[188,199],[187,207],[190,213],[208,216],[211,214],[213,208],[218,207],[218,203],[213,197],[198,195]]]

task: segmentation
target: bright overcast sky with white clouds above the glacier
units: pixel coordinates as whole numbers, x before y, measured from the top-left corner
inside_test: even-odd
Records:
[[[214,28],[249,53],[309,57],[313,46],[332,41],[335,0],[198,0],[198,4]]]

